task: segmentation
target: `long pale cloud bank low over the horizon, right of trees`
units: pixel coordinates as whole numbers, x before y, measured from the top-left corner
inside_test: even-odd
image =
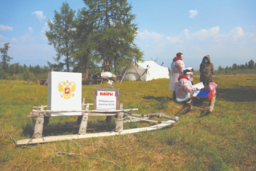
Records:
[[[159,62],[164,61],[164,66],[170,67],[174,55],[183,52],[185,65],[193,66],[196,70],[208,54],[217,67],[240,62],[244,64],[243,61],[250,59],[241,61],[241,56],[256,53],[254,32],[245,32],[241,27],[233,28],[225,34],[223,32],[219,26],[197,31],[186,28],[180,35],[174,36],[144,30],[138,33],[135,43],[144,52],[144,60],[159,57]]]

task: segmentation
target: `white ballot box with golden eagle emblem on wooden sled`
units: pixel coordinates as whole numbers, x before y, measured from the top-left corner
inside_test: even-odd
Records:
[[[81,110],[82,74],[71,72],[48,73],[48,110]],[[81,112],[52,113],[51,116],[72,116]]]

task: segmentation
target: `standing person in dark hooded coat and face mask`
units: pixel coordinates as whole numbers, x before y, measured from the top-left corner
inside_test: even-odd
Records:
[[[212,82],[212,75],[214,72],[213,64],[210,61],[210,55],[203,58],[200,64],[200,82],[203,82],[204,86],[208,87],[209,82]]]

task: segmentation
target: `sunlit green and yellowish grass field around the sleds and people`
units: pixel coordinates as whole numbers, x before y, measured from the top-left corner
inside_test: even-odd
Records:
[[[3,131],[15,140],[32,136],[31,119],[26,115],[33,106],[47,105],[47,86],[0,81],[0,170],[256,170],[256,76],[216,76],[213,81],[219,85],[210,114],[189,111],[183,103],[172,101],[167,79],[113,84],[121,91],[124,109],[138,108],[138,114],[164,112],[178,116],[180,122],[163,130],[27,147],[16,146]],[[195,77],[197,82],[199,78]],[[82,86],[86,102],[93,102],[96,87],[101,85]],[[76,119],[51,118],[49,123],[75,123]],[[104,119],[94,117],[89,122]],[[140,126],[143,123],[125,124],[125,128]],[[114,126],[88,131],[112,130]],[[76,131],[43,134],[69,135]]]

